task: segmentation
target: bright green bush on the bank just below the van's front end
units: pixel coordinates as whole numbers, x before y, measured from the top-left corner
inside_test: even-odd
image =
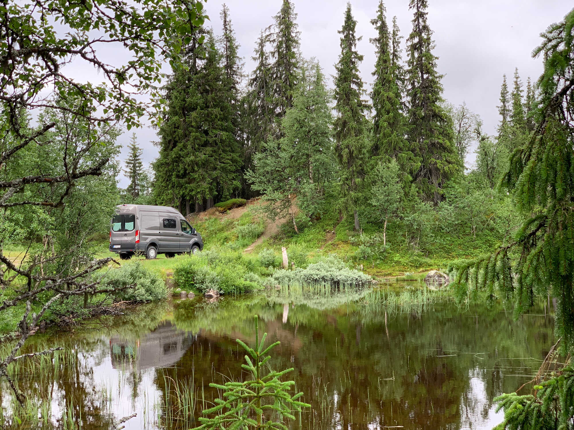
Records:
[[[178,264],[173,271],[177,287],[204,293],[240,294],[262,288],[261,279],[253,273],[255,263],[241,252],[203,252]]]

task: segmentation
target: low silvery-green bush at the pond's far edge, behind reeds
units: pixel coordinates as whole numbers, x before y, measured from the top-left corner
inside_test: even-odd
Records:
[[[282,286],[353,286],[364,288],[372,279],[369,275],[350,269],[336,257],[328,257],[319,263],[309,264],[306,269],[279,270],[273,273],[273,282]]]

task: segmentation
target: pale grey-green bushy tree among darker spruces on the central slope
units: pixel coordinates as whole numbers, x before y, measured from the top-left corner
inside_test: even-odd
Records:
[[[253,189],[270,202],[270,218],[289,214],[293,228],[295,206],[311,217],[323,209],[324,185],[332,177],[331,109],[323,72],[316,62],[301,67],[293,107],[282,120],[284,136],[270,138],[254,155],[254,169],[247,173]],[[295,198],[297,202],[295,203]]]

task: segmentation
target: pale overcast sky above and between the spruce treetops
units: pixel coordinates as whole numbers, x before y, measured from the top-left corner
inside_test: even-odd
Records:
[[[219,11],[223,2],[208,0],[207,13],[216,34],[221,33]],[[281,0],[227,0],[231,22],[245,59],[245,72],[253,70],[251,60],[259,31],[273,23],[281,7]],[[331,75],[340,52],[339,34],[343,25],[344,0],[293,0],[301,32],[301,51],[305,58],[315,57],[332,86]],[[411,30],[408,0],[390,0],[385,3],[387,20],[393,15],[401,29],[403,53],[405,40]],[[364,55],[360,65],[363,80],[370,87],[375,53],[369,38],[375,36],[370,19],[375,16],[378,0],[354,0],[352,11],[357,21],[356,34],[363,36],[358,51]],[[539,34],[553,22],[561,21],[571,10],[572,3],[565,0],[429,0],[428,21],[436,42],[435,55],[439,57],[438,71],[444,75],[444,98],[458,105],[466,101],[468,108],[480,115],[484,131],[493,134],[498,124],[496,106],[506,73],[512,80],[514,68],[526,84],[528,76],[536,80],[542,71],[540,58],[532,58],[532,50],[540,44]],[[406,57],[404,55],[404,60]],[[156,134],[152,128],[135,131],[144,150],[147,163],[157,157],[153,146]],[[127,146],[131,131],[119,137]],[[471,150],[472,151],[472,150]],[[126,148],[122,150],[122,159]],[[467,163],[474,161],[474,154]],[[120,186],[127,181],[121,178]]]

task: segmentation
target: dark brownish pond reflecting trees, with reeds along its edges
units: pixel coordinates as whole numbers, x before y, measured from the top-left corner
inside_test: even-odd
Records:
[[[498,303],[426,294],[176,300],[37,334],[30,349],[65,350],[11,369],[28,411],[14,416],[4,382],[0,424],[107,430],[137,413],[126,429],[194,427],[219,397],[208,384],[242,378],[235,339],[253,344],[257,314],[269,342],[281,341],[272,368],[294,368],[312,405],[291,428],[490,429],[502,417],[494,397],[532,380],[555,342],[552,304],[514,320]]]

